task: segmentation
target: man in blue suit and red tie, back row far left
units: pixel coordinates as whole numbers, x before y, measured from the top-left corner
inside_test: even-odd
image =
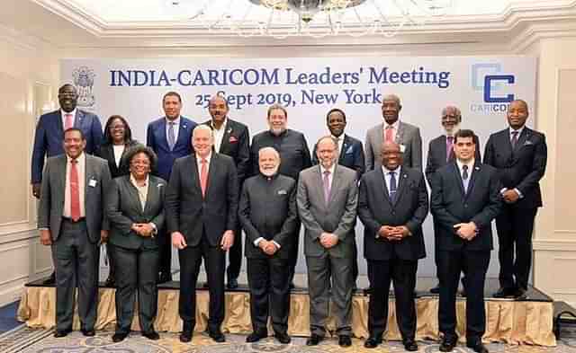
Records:
[[[32,195],[40,199],[40,182],[42,181],[42,168],[44,158],[64,154],[62,141],[64,130],[67,128],[80,128],[86,139],[85,153],[94,154],[102,143],[103,133],[100,119],[93,113],[76,109],[78,93],[72,84],[64,84],[58,89],[59,110],[43,114],[38,119],[34,146],[31,158],[31,184]],[[55,282],[54,272],[44,283],[51,285]]]

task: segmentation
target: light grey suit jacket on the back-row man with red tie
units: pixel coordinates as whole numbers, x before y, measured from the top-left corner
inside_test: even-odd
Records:
[[[384,138],[383,131],[384,123],[381,123],[374,128],[370,128],[366,133],[366,171],[372,171],[376,169],[377,166],[380,167],[382,165],[382,163],[380,163],[380,151]],[[401,145],[401,149],[403,149],[404,163],[402,165],[421,171],[422,137],[420,137],[420,129],[414,125],[400,121],[398,133],[396,134],[396,142],[398,142]]]

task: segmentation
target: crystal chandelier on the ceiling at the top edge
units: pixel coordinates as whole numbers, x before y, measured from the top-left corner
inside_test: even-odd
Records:
[[[182,21],[241,37],[393,37],[442,18],[455,0],[166,0]],[[193,10],[191,8],[193,7]]]

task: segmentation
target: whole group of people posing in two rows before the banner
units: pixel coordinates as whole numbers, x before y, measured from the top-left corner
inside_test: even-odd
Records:
[[[345,134],[345,112],[329,110],[329,134],[316,142],[312,158],[304,135],[287,128],[288,112],[281,105],[267,110],[269,129],[250,144],[247,126],[229,119],[223,97],[211,98],[211,119],[197,125],[180,115],[180,95],[166,93],[166,115],[149,123],[143,146],[132,140],[121,116],[108,119],[103,133],[95,115],[76,109],[74,86],[60,87],[58,101],[60,110],[40,117],[31,168],[32,192],[40,199],[40,242],[51,246],[56,269],[56,337],[72,329],[76,286],[81,330],[94,335],[99,244],[107,243],[112,268],[107,282],[117,288],[112,340],[129,335],[136,293],[142,334],[157,340],[157,283],[172,279],[171,244],[180,261],[180,340],[193,337],[203,259],[208,333],[224,341],[224,280],[238,287],[243,230],[253,326],[247,342],[267,337],[271,318],[276,340],[289,343],[290,288],[303,225],[311,322],[306,344],[324,339],[331,307],[338,344],[348,347],[358,217],[371,287],[365,347],[382,343],[392,282],[404,348],[418,350],[414,291],[418,260],[426,256],[422,223],[429,210],[441,351],[453,350],[458,339],[461,273],[466,344],[488,351],[482,344],[483,288],[493,219],[500,243],[500,289],[494,296],[526,297],[547,152],[545,136],[525,125],[525,101],[509,104],[509,128],[491,135],[484,163],[479,138],[461,128],[460,110],[447,106],[441,113],[445,134],[429,145],[426,177],[419,128],[399,119],[401,100],[393,94],[383,97],[383,122],[367,131],[365,148]],[[45,155],[51,157],[46,165]]]

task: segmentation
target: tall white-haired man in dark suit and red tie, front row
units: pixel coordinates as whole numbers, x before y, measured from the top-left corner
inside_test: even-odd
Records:
[[[203,258],[210,288],[208,332],[212,340],[223,342],[225,252],[234,243],[238,172],[232,158],[212,152],[211,128],[194,128],[192,143],[195,153],[174,164],[165,203],[168,233],[180,260],[178,313],[184,322],[180,340],[192,340]]]

